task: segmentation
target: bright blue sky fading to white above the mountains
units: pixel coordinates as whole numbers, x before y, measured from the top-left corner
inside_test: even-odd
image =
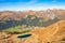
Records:
[[[64,9],[65,0],[0,0],[0,11]]]

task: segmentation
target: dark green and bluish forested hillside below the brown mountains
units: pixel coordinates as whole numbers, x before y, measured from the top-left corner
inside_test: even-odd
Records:
[[[35,15],[28,15],[27,17],[23,18],[22,20],[0,20],[0,30],[3,29],[12,29],[12,27],[17,26],[26,26],[26,27],[47,27],[58,22],[56,17],[54,19],[46,20],[42,17],[38,17]],[[18,29],[18,28],[17,28]],[[15,29],[13,29],[15,30]]]

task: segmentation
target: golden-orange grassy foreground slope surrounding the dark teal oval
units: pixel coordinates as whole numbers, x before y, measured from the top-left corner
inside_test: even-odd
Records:
[[[65,43],[65,20],[60,20],[48,27],[31,30],[32,35],[17,39],[20,34],[0,32],[0,43]]]

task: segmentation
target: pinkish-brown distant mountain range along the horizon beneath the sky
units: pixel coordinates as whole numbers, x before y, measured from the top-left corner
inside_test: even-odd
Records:
[[[27,15],[35,15],[46,19],[53,19],[55,17],[65,19],[65,10],[47,10],[47,11],[1,11],[0,20],[21,20]]]

